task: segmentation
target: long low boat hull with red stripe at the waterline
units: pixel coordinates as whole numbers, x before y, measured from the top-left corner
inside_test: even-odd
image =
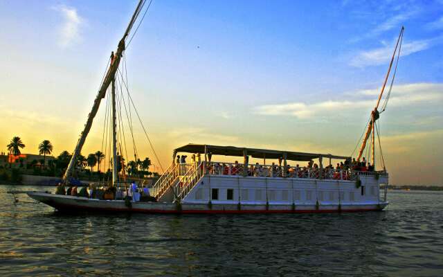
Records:
[[[174,204],[162,202],[132,202],[131,207],[123,200],[100,200],[87,197],[54,195],[30,192],[29,197],[52,206],[57,211],[75,213],[129,212],[129,213],[339,213],[381,211],[388,202],[343,204]]]

